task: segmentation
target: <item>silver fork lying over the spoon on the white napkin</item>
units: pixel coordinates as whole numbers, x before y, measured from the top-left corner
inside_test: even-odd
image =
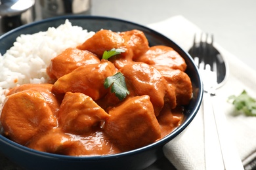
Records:
[[[191,56],[198,66],[200,76],[203,80],[203,122],[204,122],[204,144],[205,144],[205,169],[224,169],[221,146],[215,123],[211,95],[215,95],[215,86],[217,84],[216,62],[211,56],[213,45],[213,35],[210,42],[207,42],[208,35],[204,37],[203,33],[199,43],[196,43],[196,35],[192,47]],[[212,69],[212,71],[211,71]],[[214,161],[213,161],[214,160]]]

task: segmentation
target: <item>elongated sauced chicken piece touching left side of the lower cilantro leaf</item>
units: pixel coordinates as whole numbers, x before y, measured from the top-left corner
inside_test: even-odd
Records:
[[[53,84],[53,92],[80,92],[96,101],[108,92],[108,89],[104,88],[105,79],[116,72],[116,67],[107,60],[102,60],[98,64],[83,65],[58,78]]]

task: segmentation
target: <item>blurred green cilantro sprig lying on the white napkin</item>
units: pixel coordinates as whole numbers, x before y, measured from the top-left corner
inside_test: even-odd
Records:
[[[228,101],[232,101],[235,109],[244,112],[246,116],[256,116],[256,99],[249,96],[245,90],[238,96],[230,95]]]

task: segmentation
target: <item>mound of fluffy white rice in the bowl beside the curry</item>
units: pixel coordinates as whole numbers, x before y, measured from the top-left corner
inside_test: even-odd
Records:
[[[95,32],[72,24],[49,27],[33,35],[20,35],[3,56],[0,54],[0,111],[10,88],[21,84],[39,84],[49,80],[46,73],[51,58],[69,47],[83,43]]]

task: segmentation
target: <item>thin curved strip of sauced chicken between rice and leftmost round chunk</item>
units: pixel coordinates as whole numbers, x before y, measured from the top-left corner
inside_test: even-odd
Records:
[[[60,107],[59,96],[56,96],[52,91],[53,84],[22,84],[15,88],[12,88],[8,95],[13,93],[22,92],[24,90],[33,90],[35,92],[41,93],[45,98],[47,105],[51,108],[54,116],[58,113],[58,108]]]

